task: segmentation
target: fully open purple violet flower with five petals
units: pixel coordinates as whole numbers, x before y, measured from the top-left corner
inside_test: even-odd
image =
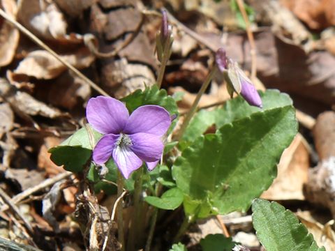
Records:
[[[125,178],[143,161],[149,170],[156,167],[164,148],[161,137],[171,124],[163,107],[144,105],[129,116],[121,101],[98,96],[87,103],[86,116],[91,126],[104,134],[93,150],[96,164],[103,165],[112,157]]]

